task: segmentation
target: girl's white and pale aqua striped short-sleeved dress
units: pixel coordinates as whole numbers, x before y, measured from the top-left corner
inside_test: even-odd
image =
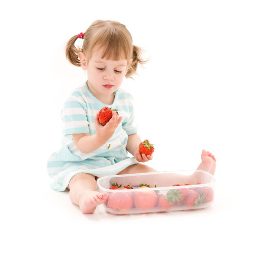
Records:
[[[118,109],[119,116],[122,116],[121,123],[112,137],[99,149],[82,153],[76,148],[72,134],[95,134],[94,117],[104,106]],[[123,89],[115,91],[112,105],[105,105],[94,97],[85,83],[67,98],[61,111],[61,118],[62,146],[47,161],[47,172],[53,179],[52,189],[64,191],[70,179],[78,173],[90,173],[98,177],[115,175],[129,165],[138,163],[135,158],[127,156],[128,135],[137,132],[137,124],[133,98]]]

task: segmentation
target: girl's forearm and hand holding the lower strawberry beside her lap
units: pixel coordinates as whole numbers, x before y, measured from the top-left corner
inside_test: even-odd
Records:
[[[128,135],[126,149],[127,151],[132,154],[135,159],[139,162],[145,162],[148,160],[152,160],[153,156],[145,155],[139,153],[139,144],[141,143],[141,138],[137,133]]]

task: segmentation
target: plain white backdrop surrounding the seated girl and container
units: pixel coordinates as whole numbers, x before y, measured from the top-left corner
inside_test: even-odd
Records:
[[[254,250],[256,8],[254,1],[9,1],[1,3],[2,253]],[[122,88],[156,170],[217,158],[216,199],[200,211],[82,215],[49,188],[46,160],[61,145],[60,112],[85,80],[65,43],[96,19],[126,25],[151,60]],[[82,42],[82,40],[81,40]],[[118,231],[118,232],[117,232]],[[51,247],[49,247],[51,246]],[[8,251],[7,251],[8,250]],[[251,252],[252,253],[252,252]]]

